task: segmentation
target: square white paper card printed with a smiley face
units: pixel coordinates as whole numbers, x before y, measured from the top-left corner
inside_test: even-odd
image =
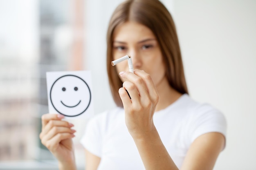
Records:
[[[46,82],[49,113],[65,118],[93,115],[90,71],[47,72]]]

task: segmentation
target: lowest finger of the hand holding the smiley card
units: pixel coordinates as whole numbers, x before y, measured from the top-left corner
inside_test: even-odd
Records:
[[[52,139],[48,140],[45,142],[45,146],[46,148],[48,148],[50,151],[53,151],[54,148],[57,148],[59,143],[65,139],[70,139],[72,137],[75,137],[74,134],[70,134],[70,133],[58,133],[57,135],[55,135],[54,137],[52,137]]]

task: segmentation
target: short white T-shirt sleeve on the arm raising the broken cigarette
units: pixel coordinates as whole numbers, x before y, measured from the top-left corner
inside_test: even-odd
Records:
[[[190,143],[208,132],[219,132],[226,138],[227,121],[219,110],[209,104],[202,104],[193,110],[189,131]]]

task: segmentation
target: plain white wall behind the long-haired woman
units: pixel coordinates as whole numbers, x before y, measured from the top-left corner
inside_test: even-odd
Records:
[[[86,61],[94,111],[114,107],[106,74],[106,29],[122,0],[87,0]],[[172,11],[191,97],[219,108],[227,147],[215,170],[256,169],[256,1],[162,0]]]

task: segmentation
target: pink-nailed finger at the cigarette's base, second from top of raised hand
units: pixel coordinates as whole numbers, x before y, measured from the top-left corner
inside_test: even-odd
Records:
[[[128,79],[130,82],[136,85],[137,91],[139,92],[140,96],[148,97],[148,89],[146,87],[144,79],[131,72],[120,72],[119,74],[121,77]]]

